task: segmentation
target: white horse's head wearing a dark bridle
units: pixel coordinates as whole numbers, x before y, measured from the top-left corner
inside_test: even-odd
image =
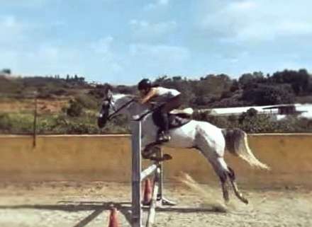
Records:
[[[107,91],[101,105],[98,117],[98,126],[103,128],[108,120],[113,119],[117,115],[125,113],[125,109],[133,103],[133,98],[123,94],[113,94]]]

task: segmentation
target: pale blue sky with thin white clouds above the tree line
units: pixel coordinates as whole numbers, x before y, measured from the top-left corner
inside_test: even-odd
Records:
[[[312,71],[310,0],[0,0],[0,69],[132,85]]]

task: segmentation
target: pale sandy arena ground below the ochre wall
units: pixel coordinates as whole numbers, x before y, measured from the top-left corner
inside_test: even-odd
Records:
[[[312,226],[312,191],[301,188],[243,190],[250,204],[231,194],[226,210],[221,189],[165,184],[165,195],[178,202],[157,211],[155,226]],[[113,182],[0,183],[1,227],[108,226],[110,206],[118,208],[119,226],[130,226],[130,185]],[[145,215],[146,216],[146,215]],[[146,219],[146,217],[144,217]]]

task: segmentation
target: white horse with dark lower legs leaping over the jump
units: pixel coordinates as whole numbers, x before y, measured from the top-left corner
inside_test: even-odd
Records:
[[[106,121],[111,120],[116,115],[126,115],[129,120],[144,116],[140,117],[143,149],[157,140],[158,127],[152,120],[150,105],[137,103],[132,95],[113,94],[108,91],[98,118],[99,127],[104,127]],[[254,167],[269,169],[267,165],[255,158],[247,144],[247,134],[241,129],[221,129],[208,122],[191,120],[182,127],[170,129],[169,135],[171,140],[160,144],[160,146],[197,149],[211,163],[221,180],[225,202],[229,200],[227,187],[227,179],[229,178],[238,199],[245,204],[248,203],[248,200],[238,190],[233,169],[223,159],[225,150],[243,158]]]

